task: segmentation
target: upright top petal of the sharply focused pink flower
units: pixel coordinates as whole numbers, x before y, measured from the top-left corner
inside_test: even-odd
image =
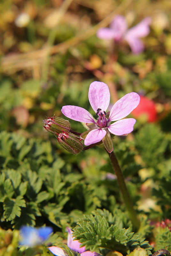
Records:
[[[89,87],[89,102],[95,112],[97,112],[97,108],[106,111],[110,102],[110,92],[107,84],[97,81],[91,83]]]

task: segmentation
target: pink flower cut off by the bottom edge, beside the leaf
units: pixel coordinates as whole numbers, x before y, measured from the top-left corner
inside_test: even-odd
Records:
[[[81,256],[99,256],[100,254],[97,252],[91,252],[91,251],[86,251],[85,246],[80,247],[81,243],[78,240],[73,240],[74,237],[72,237],[73,231],[70,228],[67,228],[68,232],[68,237],[67,237],[67,246],[75,251],[79,252]],[[61,249],[58,246],[50,246],[49,250],[57,256],[67,256],[66,252]]]

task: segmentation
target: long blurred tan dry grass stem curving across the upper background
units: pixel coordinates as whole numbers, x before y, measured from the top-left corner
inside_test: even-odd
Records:
[[[68,1],[68,3],[71,2]],[[69,47],[74,46],[81,41],[86,40],[90,36],[94,35],[96,31],[107,26],[113,17],[117,13],[122,13],[128,6],[133,2],[133,0],[123,1],[113,12],[111,12],[104,20],[100,21],[94,27],[88,29],[87,31],[81,32],[74,38],[71,38],[63,43],[54,45],[52,47],[45,46],[43,49],[27,52],[22,54],[15,54],[10,56],[5,56],[1,60],[1,69],[5,73],[15,73],[16,71],[23,70],[25,68],[33,68],[35,61],[42,65],[44,58],[50,54],[57,54],[58,52],[65,52]],[[66,9],[66,7],[65,7]]]

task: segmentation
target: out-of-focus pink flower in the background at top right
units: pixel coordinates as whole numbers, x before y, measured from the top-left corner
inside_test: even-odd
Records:
[[[122,15],[114,17],[110,28],[100,28],[97,36],[101,39],[114,39],[116,43],[126,40],[134,54],[143,52],[144,44],[140,40],[141,37],[147,36],[150,32],[149,25],[152,22],[150,17],[146,17],[135,27],[128,29],[126,19]]]

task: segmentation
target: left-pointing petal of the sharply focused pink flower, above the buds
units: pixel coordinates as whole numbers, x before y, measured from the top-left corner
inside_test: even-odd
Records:
[[[83,123],[94,123],[93,116],[84,108],[77,106],[63,106],[61,112],[68,118]]]

